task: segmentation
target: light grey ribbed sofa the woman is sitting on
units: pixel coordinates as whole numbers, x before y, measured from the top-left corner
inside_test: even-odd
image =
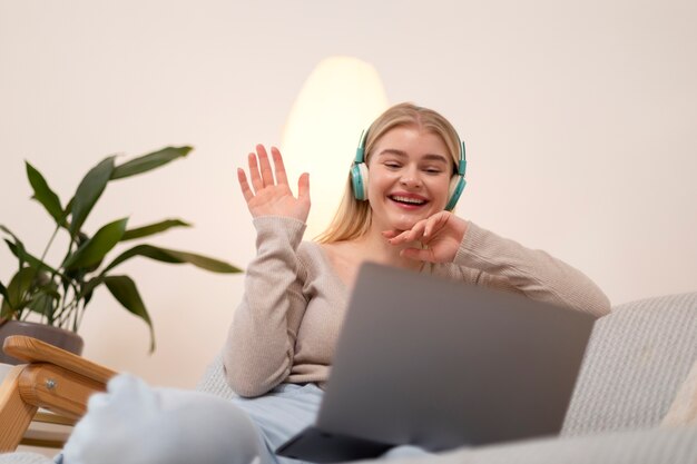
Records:
[[[234,395],[219,357],[197,389]],[[0,464],[51,462],[32,453],[0,455]],[[696,464],[697,292],[618,305],[597,320],[560,436],[390,462]]]

